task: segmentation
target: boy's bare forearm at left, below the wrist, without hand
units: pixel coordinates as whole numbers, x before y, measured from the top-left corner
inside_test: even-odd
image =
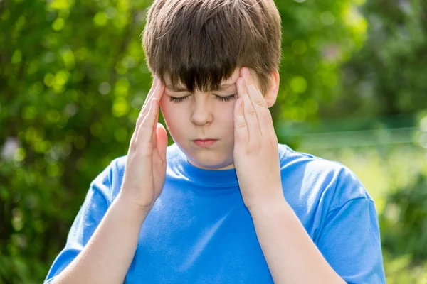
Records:
[[[123,283],[148,212],[131,206],[119,195],[83,251],[53,281],[66,283]]]

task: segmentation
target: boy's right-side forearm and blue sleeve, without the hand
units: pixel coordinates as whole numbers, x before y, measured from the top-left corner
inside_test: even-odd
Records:
[[[386,283],[374,201],[352,175],[343,180],[338,190],[360,193],[330,209],[316,244],[283,197],[251,209],[276,283],[344,283],[337,275],[352,284]]]

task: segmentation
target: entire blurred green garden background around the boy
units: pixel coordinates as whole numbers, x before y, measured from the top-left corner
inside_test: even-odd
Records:
[[[149,91],[144,0],[0,0],[0,283],[41,283]],[[388,283],[427,283],[427,2],[277,0],[281,143],[376,201]],[[162,118],[161,118],[162,121]]]

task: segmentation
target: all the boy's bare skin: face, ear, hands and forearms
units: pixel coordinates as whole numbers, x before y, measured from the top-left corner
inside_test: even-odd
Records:
[[[219,104],[211,94],[194,94],[179,107],[168,102],[165,86],[154,80],[130,141],[120,193],[88,244],[53,283],[125,280],[139,231],[162,192],[166,174],[167,133],[157,123],[160,101],[169,131],[184,152],[191,154],[191,163],[216,170],[236,168],[243,201],[251,212],[275,283],[344,283],[312,243],[283,196],[277,137],[268,110],[277,95],[278,72],[270,76],[270,89],[264,97],[247,68],[238,70],[235,76],[230,79],[238,94],[233,102]],[[172,112],[182,117],[178,119]],[[214,135],[208,138],[218,138],[221,143],[199,151],[189,142],[199,138],[197,135]]]

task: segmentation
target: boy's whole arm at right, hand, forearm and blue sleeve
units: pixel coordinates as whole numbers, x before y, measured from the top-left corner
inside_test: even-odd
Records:
[[[334,207],[320,228],[318,249],[283,196],[278,141],[268,104],[246,68],[241,70],[236,85],[239,99],[234,109],[234,164],[243,202],[251,212],[275,283],[344,283],[344,279],[350,283],[381,283],[384,272],[375,212],[368,203],[354,202],[354,211],[345,210],[343,204]],[[342,189],[349,190],[349,186],[354,192],[363,191],[352,180],[344,182]],[[344,214],[339,214],[341,207]],[[362,216],[365,219],[359,221]],[[367,218],[372,221],[367,222]],[[363,223],[363,228],[355,232],[357,223]],[[364,235],[372,233],[376,236],[366,240]],[[369,268],[372,263],[373,268]]]

